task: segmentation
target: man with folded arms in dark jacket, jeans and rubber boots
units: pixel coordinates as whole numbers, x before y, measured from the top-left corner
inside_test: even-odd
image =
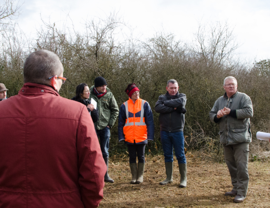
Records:
[[[173,181],[173,148],[175,156],[178,160],[181,182],[179,187],[187,186],[187,160],[185,156],[185,105],[187,97],[183,93],[178,92],[179,86],[175,79],[167,81],[165,95],[161,95],[156,103],[155,111],[160,113],[161,125],[161,142],[164,152],[166,179],[160,182],[161,185],[166,185]]]

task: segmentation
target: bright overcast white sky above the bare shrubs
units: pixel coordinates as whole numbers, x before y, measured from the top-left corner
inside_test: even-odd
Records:
[[[241,57],[249,61],[270,58],[270,0],[25,0],[18,20],[27,35],[34,37],[41,17],[62,24],[69,15],[80,30],[86,20],[104,19],[113,11],[141,39],[164,30],[187,42],[199,22],[227,21],[241,44],[237,51]],[[67,26],[71,26],[69,18]]]

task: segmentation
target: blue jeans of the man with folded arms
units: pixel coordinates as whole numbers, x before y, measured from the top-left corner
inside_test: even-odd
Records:
[[[165,162],[173,162],[173,148],[178,163],[187,163],[184,150],[184,133],[183,131],[168,132],[161,131],[161,142],[164,152]]]

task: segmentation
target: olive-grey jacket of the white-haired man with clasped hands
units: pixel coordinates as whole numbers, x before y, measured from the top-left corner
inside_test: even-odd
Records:
[[[217,118],[217,111],[228,107],[236,110],[233,117],[231,113]],[[219,97],[212,110],[210,111],[210,120],[219,126],[220,143],[223,145],[239,144],[251,142],[250,120],[253,116],[253,107],[251,99],[244,93],[236,92],[231,98],[224,96]],[[215,118],[216,117],[216,118]]]

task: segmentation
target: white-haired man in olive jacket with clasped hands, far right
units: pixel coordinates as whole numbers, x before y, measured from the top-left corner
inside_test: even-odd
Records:
[[[224,96],[219,97],[212,110],[210,120],[219,126],[220,143],[224,147],[225,162],[228,166],[233,189],[225,196],[236,196],[235,203],[246,197],[248,187],[248,153],[251,142],[249,118],[253,116],[251,99],[237,91],[234,77],[224,79]]]

